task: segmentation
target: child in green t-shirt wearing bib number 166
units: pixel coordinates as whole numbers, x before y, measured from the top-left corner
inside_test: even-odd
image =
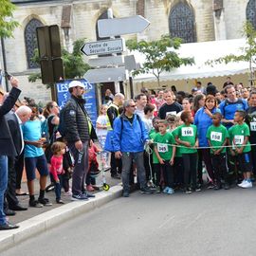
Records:
[[[183,159],[185,192],[198,192],[201,190],[196,185],[197,150],[195,147],[198,147],[197,130],[196,126],[192,124],[193,118],[190,111],[182,112],[180,119],[184,124],[177,127],[174,137],[177,144],[183,146],[180,148],[180,153]],[[190,186],[191,179],[192,188]]]

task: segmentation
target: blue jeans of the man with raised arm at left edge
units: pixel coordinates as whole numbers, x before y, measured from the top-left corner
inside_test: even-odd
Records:
[[[8,156],[0,155],[0,225],[6,224],[4,196],[8,186]]]

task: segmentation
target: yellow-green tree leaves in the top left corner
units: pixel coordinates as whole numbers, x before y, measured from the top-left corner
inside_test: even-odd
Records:
[[[9,0],[0,0],[0,38],[12,36],[12,31],[19,23],[13,20],[15,6]]]

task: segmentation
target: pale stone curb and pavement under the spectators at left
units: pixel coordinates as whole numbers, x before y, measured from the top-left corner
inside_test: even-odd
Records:
[[[52,229],[53,227],[62,224],[65,220],[74,218],[86,211],[101,207],[101,205],[118,198],[122,191],[120,180],[111,178],[109,172],[105,172],[105,174],[107,184],[110,185],[110,190],[108,192],[102,191],[102,189],[96,191],[94,192],[96,197],[88,201],[71,201],[70,196],[63,196],[62,193],[62,199],[65,204],[59,205],[55,202],[54,191],[51,191],[46,192],[46,197],[53,204],[51,207],[29,208],[29,196],[18,196],[21,205],[28,207],[28,209],[24,211],[16,211],[15,216],[9,216],[9,222],[19,224],[20,228],[0,231],[0,251],[7,249],[8,247],[13,247],[17,243],[20,243],[41,231]],[[97,180],[98,182],[101,182],[101,176],[98,177]],[[22,190],[27,192],[26,183],[22,184]],[[35,180],[35,192],[39,192],[38,180]]]

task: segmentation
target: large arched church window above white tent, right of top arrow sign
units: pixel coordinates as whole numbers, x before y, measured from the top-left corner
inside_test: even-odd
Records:
[[[180,37],[184,43],[196,42],[194,14],[186,3],[178,3],[170,11],[169,31],[171,37]]]

